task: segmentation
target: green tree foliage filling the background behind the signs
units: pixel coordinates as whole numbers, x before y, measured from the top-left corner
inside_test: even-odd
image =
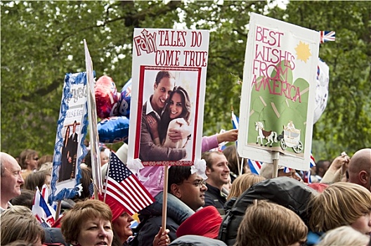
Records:
[[[272,6],[273,4],[273,6]],[[1,149],[53,154],[63,79],[85,70],[121,89],[131,77],[134,27],[210,30],[204,134],[230,129],[240,108],[249,13],[312,30],[334,30],[320,46],[330,67],[327,109],[314,125],[313,154],[333,158],[371,146],[371,7],[367,1],[1,1]]]

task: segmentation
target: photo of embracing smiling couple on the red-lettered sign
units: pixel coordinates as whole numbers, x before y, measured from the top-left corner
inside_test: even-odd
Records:
[[[162,70],[154,82],[144,85],[144,90],[151,87],[151,95],[143,96],[147,98],[141,117],[139,157],[143,162],[190,160],[192,103],[188,91],[177,85],[175,73]]]

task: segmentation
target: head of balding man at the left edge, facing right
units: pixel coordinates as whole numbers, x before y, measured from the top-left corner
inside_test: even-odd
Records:
[[[8,208],[9,201],[20,195],[20,186],[24,181],[17,160],[4,152],[0,152],[0,171],[0,212],[3,212]]]

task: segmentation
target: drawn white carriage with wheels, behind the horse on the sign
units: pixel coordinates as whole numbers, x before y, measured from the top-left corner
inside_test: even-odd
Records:
[[[277,140],[280,141],[282,150],[288,147],[292,148],[295,153],[303,151],[303,143],[300,141],[300,129],[296,129],[292,121],[289,121],[287,126],[283,126],[282,134],[277,136]]]

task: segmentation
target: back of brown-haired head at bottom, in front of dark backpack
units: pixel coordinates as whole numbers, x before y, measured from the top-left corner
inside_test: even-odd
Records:
[[[293,245],[304,242],[307,233],[304,221],[292,210],[265,200],[255,200],[246,209],[235,245]]]

